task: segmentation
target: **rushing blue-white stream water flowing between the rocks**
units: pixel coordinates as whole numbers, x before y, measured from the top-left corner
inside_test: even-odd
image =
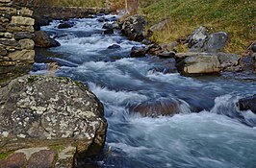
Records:
[[[99,17],[73,19],[75,26],[66,30],[56,28],[60,21],[43,27],[62,46],[38,50],[31,72],[45,74],[45,63],[57,61],[58,76],[87,84],[104,104],[110,152],[96,160],[98,167],[256,167],[256,115],[235,106],[256,93],[255,76],[165,73],[173,71],[174,60],[130,58],[131,48],[141,43],[118,32],[103,35]],[[113,44],[120,48],[108,49]],[[131,107],[160,98],[181,101],[182,113],[159,118],[131,113]]]

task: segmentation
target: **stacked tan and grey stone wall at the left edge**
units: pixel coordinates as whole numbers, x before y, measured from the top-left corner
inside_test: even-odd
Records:
[[[32,15],[13,0],[0,0],[0,82],[30,71],[35,57]]]

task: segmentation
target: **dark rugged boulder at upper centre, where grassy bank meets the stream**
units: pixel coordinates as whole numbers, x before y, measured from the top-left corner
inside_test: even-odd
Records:
[[[121,32],[131,40],[142,41],[145,38],[146,24],[142,15],[132,15],[123,21]]]

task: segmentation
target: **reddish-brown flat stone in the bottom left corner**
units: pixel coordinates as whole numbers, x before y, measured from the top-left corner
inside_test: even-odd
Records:
[[[0,159],[1,168],[20,168],[25,167],[27,163],[27,158],[22,153],[16,153],[12,156],[9,156],[6,159]]]

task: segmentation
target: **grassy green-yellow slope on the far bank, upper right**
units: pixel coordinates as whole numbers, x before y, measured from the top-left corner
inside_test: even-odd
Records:
[[[184,38],[201,25],[230,36],[226,52],[241,53],[255,40],[254,0],[149,0],[147,4],[144,1],[141,0],[140,12],[150,25],[168,18],[166,29],[152,37],[157,42]]]

